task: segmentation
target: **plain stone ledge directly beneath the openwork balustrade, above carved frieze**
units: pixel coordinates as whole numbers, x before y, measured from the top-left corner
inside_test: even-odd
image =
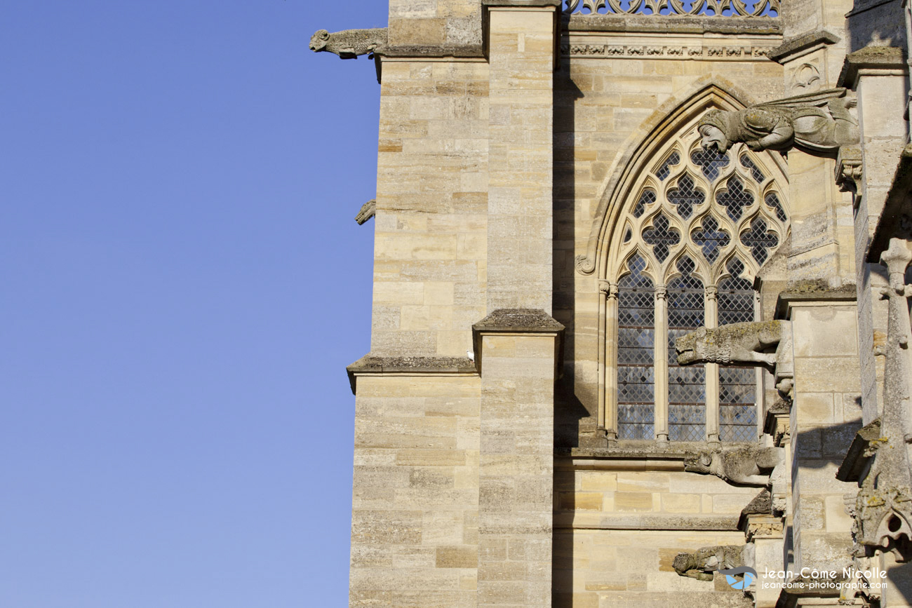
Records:
[[[564,15],[563,30],[570,32],[643,32],[663,34],[782,35],[777,17],[668,15]]]

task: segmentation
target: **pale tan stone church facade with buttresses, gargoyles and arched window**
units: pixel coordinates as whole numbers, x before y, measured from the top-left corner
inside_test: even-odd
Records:
[[[912,605],[909,15],[389,0],[314,35],[381,88],[351,606]]]

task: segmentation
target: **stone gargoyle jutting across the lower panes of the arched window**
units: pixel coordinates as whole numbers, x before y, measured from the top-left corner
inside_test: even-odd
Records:
[[[792,324],[789,321],[732,323],[701,327],[675,341],[678,364],[718,363],[723,366],[774,366],[788,363]]]

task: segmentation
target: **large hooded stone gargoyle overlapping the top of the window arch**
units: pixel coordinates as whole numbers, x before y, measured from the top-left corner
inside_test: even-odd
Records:
[[[697,129],[703,148],[725,152],[743,141],[752,150],[786,150],[832,156],[842,146],[858,143],[858,120],[849,113],[855,98],[845,88],[829,88],[757,104],[741,110],[710,110]]]

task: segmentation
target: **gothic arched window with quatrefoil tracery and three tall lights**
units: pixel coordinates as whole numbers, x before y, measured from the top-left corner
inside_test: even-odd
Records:
[[[758,436],[757,371],[679,366],[675,340],[703,325],[757,319],[754,276],[788,230],[784,176],[741,144],[726,154],[699,144],[692,127],[669,142],[640,170],[618,219],[606,425],[620,439]]]

